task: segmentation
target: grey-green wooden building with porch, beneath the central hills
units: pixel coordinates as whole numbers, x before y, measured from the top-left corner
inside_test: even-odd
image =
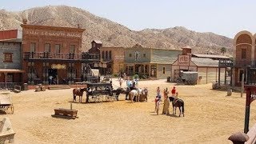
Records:
[[[124,54],[126,74],[146,75],[154,78],[167,78],[171,74],[171,64],[181,50],[162,50],[133,46]]]

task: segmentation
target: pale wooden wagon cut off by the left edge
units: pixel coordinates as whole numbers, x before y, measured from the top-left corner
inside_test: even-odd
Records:
[[[10,95],[1,95],[0,110],[5,111],[6,114],[14,114],[14,104]]]

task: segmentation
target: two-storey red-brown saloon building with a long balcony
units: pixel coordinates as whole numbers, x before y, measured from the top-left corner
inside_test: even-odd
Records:
[[[85,77],[88,62],[99,61],[98,54],[82,54],[85,29],[79,25],[34,26],[25,20],[21,26],[23,82],[29,85],[79,82]]]

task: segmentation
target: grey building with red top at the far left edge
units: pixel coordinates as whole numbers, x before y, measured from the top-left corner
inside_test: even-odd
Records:
[[[22,31],[0,31],[0,87],[22,85]]]

